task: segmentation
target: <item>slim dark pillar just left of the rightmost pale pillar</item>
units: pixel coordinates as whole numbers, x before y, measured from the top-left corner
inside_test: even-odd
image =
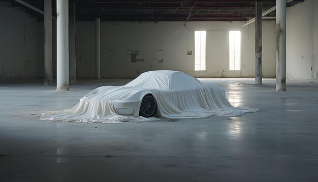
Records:
[[[255,84],[262,84],[262,2],[255,3]]]

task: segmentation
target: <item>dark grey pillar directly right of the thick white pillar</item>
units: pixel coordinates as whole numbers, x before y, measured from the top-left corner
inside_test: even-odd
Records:
[[[76,83],[76,12],[75,2],[70,3],[70,83]]]

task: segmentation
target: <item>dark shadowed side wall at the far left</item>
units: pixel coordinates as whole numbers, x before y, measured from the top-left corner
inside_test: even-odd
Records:
[[[36,77],[38,22],[0,2],[0,80]]]

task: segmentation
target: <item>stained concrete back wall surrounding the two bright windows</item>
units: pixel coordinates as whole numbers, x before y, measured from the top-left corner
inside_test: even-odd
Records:
[[[196,77],[255,76],[255,24],[243,22],[101,22],[102,77],[137,77],[149,70],[178,70]],[[77,22],[76,59],[79,77],[94,77],[94,22]],[[229,32],[241,31],[241,70],[229,70]],[[207,69],[194,71],[194,32],[207,31]],[[275,22],[263,22],[263,76],[275,77]],[[114,62],[110,62],[114,50]],[[138,50],[131,63],[129,50]],[[163,50],[163,63],[158,62]],[[187,51],[192,55],[187,55]]]

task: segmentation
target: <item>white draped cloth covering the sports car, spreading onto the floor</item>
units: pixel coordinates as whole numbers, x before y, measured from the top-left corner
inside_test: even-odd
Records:
[[[144,122],[157,120],[156,117],[122,116],[115,112],[114,102],[122,96],[141,92],[152,94],[157,103],[157,117],[205,118],[211,115],[236,116],[257,109],[233,107],[225,96],[224,89],[212,83],[178,71],[150,71],[141,74],[123,86],[107,86],[92,97],[83,97],[80,102],[64,111],[47,111],[41,119],[68,122]],[[134,97],[134,96],[133,96]],[[136,99],[136,97],[135,97]]]

